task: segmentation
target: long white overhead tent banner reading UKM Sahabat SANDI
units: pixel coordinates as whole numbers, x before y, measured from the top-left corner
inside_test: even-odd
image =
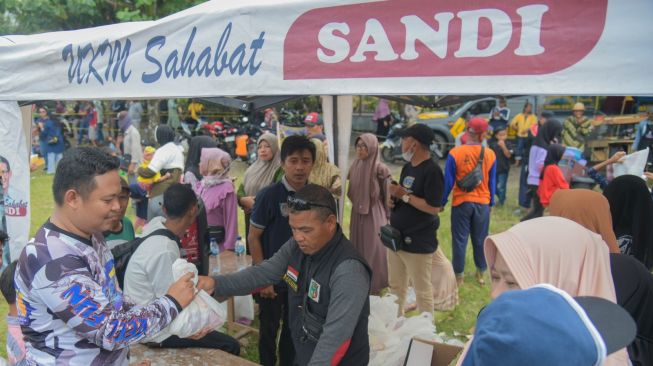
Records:
[[[653,95],[650,0],[214,0],[0,37],[0,100]]]

